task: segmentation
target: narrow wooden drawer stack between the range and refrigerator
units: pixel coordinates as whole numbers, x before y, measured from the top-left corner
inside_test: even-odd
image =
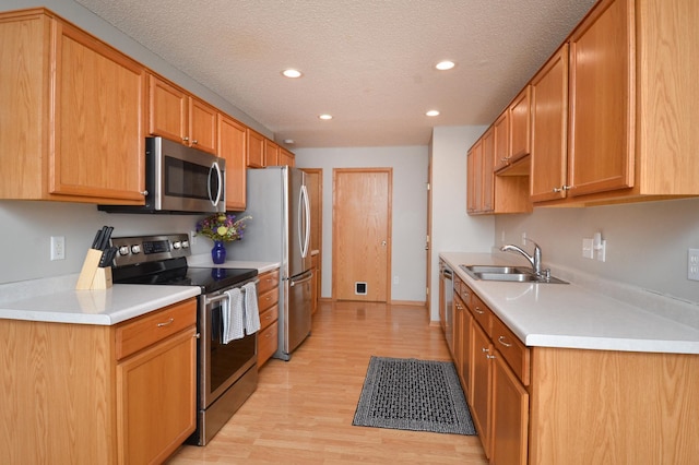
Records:
[[[263,273],[258,284],[260,332],[258,333],[258,369],[274,355],[279,347],[280,271]]]

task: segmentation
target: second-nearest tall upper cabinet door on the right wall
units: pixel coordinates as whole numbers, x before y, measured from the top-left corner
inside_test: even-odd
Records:
[[[533,202],[566,196],[568,133],[568,45],[532,80]]]

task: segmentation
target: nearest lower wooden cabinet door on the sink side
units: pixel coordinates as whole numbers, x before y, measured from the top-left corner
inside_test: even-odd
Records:
[[[526,464],[529,394],[496,351],[493,363],[494,464]]]

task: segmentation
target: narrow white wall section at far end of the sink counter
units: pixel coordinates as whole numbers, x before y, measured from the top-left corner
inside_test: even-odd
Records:
[[[485,129],[460,126],[433,131],[433,321],[439,321],[439,253],[489,252],[493,247],[495,219],[466,214],[466,152]]]

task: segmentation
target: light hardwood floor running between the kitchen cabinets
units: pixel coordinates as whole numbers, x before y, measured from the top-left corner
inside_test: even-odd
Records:
[[[450,360],[422,307],[321,302],[289,361],[271,359],[257,391],[191,464],[487,464],[477,437],[352,426],[370,356]]]

